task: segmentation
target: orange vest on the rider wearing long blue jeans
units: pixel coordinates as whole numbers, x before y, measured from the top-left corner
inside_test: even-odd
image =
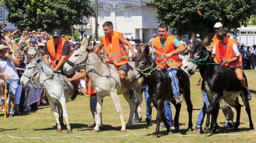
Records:
[[[174,36],[169,35],[165,41],[164,49],[162,48],[162,44],[160,41],[160,37],[156,37],[154,40],[154,47],[156,48],[156,64],[159,65],[160,69],[164,69],[165,65],[168,66],[181,66],[181,60],[179,55],[172,55],[170,58],[166,60],[164,63],[164,58],[162,57],[164,54],[170,53],[175,50],[174,47]],[[175,61],[175,62],[174,62]],[[161,64],[162,63],[162,64]]]

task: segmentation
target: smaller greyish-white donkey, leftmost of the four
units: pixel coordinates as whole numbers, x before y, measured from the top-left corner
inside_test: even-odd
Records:
[[[27,54],[27,56],[29,55]],[[23,87],[26,87],[30,82],[40,82],[45,89],[49,104],[54,112],[57,121],[57,132],[61,132],[63,112],[67,131],[68,133],[72,133],[72,129],[68,123],[66,102],[74,94],[75,84],[73,82],[63,81],[64,78],[67,77],[61,73],[53,73],[51,66],[45,63],[43,56],[37,52],[35,57],[27,65],[27,68],[20,79],[20,83]],[[56,105],[58,107],[58,112]]]

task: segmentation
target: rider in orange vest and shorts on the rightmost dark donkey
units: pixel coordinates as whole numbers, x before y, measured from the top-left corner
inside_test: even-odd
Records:
[[[246,81],[243,77],[242,55],[238,51],[237,41],[228,38],[227,32],[225,28],[220,28],[217,31],[219,40],[215,43],[212,51],[212,54],[215,55],[214,61],[220,62],[223,66],[235,71],[236,77],[243,87],[244,94],[248,100],[251,100],[250,90],[246,86]]]

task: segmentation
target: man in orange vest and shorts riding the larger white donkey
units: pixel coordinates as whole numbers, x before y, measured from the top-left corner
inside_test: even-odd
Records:
[[[116,70],[119,73],[120,80],[125,84],[129,89],[130,100],[135,99],[134,89],[131,86],[129,78],[126,76],[126,66],[129,61],[127,57],[127,51],[124,47],[124,44],[129,47],[132,52],[132,56],[136,57],[136,53],[133,50],[133,46],[129,41],[127,41],[123,33],[113,31],[113,23],[107,21],[102,25],[105,36],[102,37],[97,48],[94,49],[95,53],[99,53],[100,49],[104,46],[107,53],[107,62],[114,63]]]

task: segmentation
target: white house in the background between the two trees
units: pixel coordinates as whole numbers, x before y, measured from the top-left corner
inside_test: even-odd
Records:
[[[91,1],[95,3],[95,1]],[[158,35],[156,7],[149,6],[151,1],[98,0],[98,35],[103,36],[102,24],[113,22],[114,31],[124,33],[125,38],[134,37],[141,41],[149,41],[153,34]],[[87,19],[86,35],[95,33],[95,19]]]

